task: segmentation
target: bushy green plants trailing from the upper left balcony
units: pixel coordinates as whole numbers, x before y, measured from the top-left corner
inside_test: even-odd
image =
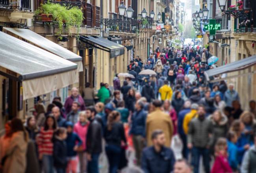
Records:
[[[63,33],[64,22],[67,30],[71,26],[77,26],[79,28],[82,24],[83,13],[78,7],[67,9],[67,7],[61,6],[60,4],[47,2],[47,4],[42,5],[42,13],[51,14],[53,20],[58,22],[58,35]]]

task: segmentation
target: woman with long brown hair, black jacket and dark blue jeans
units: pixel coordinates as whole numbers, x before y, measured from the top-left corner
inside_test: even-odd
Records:
[[[125,131],[120,122],[120,113],[112,111],[108,115],[104,138],[106,140],[106,153],[109,163],[109,173],[116,173],[121,160],[121,141],[126,144]]]

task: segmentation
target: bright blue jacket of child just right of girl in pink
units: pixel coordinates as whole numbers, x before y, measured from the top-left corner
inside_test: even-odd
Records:
[[[228,143],[228,163],[232,167],[233,170],[237,170],[238,166],[238,158],[237,158],[237,146],[227,140]]]

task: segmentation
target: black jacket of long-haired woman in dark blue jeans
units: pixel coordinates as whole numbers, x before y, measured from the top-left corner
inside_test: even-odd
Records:
[[[121,146],[121,141],[126,143],[123,124],[121,122],[113,123],[111,130],[105,127],[104,138],[108,145]]]

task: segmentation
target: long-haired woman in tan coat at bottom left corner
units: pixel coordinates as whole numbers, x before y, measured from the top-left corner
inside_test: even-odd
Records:
[[[24,173],[26,171],[26,151],[28,134],[19,118],[11,120],[11,139],[6,146],[3,172]]]

